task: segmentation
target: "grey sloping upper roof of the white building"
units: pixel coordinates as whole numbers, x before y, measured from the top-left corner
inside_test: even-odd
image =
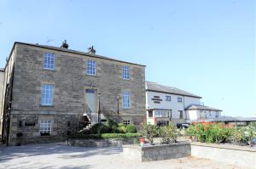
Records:
[[[159,93],[169,93],[169,94],[177,94],[177,95],[182,95],[182,96],[189,96],[193,98],[199,98],[201,99],[201,96],[197,96],[193,93],[189,93],[186,91],[183,91],[181,89],[178,89],[176,87],[167,87],[160,85],[156,82],[146,82],[146,91],[151,91],[151,92],[159,92]]]

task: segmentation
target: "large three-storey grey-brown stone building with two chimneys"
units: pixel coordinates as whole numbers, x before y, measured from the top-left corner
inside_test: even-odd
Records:
[[[93,48],[84,53],[66,42],[61,48],[15,42],[1,73],[1,135],[9,144],[61,140],[84,121],[107,116],[137,127],[146,120],[145,66]]]

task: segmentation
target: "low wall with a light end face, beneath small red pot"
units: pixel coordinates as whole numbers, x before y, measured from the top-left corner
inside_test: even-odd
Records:
[[[136,161],[163,161],[191,155],[189,143],[158,144],[140,147],[123,145],[123,155]]]

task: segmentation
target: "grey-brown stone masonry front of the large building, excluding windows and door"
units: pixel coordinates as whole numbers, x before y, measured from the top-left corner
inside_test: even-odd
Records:
[[[44,53],[55,54],[55,69],[44,69]],[[146,120],[145,66],[98,57],[96,54],[15,42],[14,82],[10,112],[9,144],[37,144],[60,141],[70,127],[79,127],[85,110],[84,90],[101,93],[100,110],[117,111],[119,116],[139,126]],[[86,74],[86,61],[96,61],[96,76]],[[123,79],[123,65],[130,67],[130,79]],[[42,84],[53,84],[53,104],[41,105]],[[122,93],[131,93],[131,106],[123,109]],[[120,96],[120,99],[117,99]],[[98,100],[100,99],[100,100]],[[100,102],[99,102],[100,101]],[[96,105],[96,108],[99,104]],[[51,121],[49,136],[41,136],[40,120]],[[22,137],[17,138],[17,133]]]

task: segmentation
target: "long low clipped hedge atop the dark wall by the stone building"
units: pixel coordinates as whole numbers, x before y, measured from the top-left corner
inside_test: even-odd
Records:
[[[69,138],[137,138],[141,137],[141,133],[102,133],[102,134],[83,134],[83,133],[75,133],[71,135]]]

